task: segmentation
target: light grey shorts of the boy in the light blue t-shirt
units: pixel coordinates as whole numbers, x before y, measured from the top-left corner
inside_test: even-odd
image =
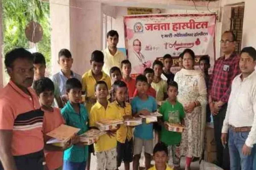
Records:
[[[153,154],[153,139],[144,140],[134,137],[134,155],[139,155],[142,152],[143,146],[145,153]]]

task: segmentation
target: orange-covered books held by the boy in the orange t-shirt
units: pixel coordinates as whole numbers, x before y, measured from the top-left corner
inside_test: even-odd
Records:
[[[63,147],[67,142],[71,142],[70,139],[76,133],[79,132],[80,129],[68,125],[60,125],[54,130],[47,133],[47,136],[52,137],[46,144],[52,144],[54,146]]]

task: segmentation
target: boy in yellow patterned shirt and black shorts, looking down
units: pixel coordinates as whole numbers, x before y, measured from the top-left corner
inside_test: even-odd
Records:
[[[125,82],[115,81],[113,91],[116,100],[113,102],[114,106],[120,114],[120,119],[129,119],[131,116],[131,105],[125,102],[125,96],[128,94],[128,88]],[[132,127],[121,125],[116,131],[117,138],[117,168],[121,166],[122,161],[125,164],[125,170],[130,169],[130,162],[133,160],[133,131]]]

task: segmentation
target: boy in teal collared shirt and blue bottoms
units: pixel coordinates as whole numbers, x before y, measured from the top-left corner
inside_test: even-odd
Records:
[[[81,82],[76,78],[67,80],[66,83],[67,96],[69,101],[61,109],[61,114],[66,125],[79,128],[77,135],[81,135],[88,127],[88,112],[84,105],[81,105]],[[78,141],[76,141],[78,142]],[[80,142],[64,151],[63,170],[85,170],[88,157],[88,146]]]

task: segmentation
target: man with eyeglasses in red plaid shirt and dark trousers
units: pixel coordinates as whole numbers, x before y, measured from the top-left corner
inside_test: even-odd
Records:
[[[218,166],[224,170],[229,170],[229,150],[226,144],[221,144],[221,130],[227,111],[232,81],[241,72],[239,56],[235,52],[236,36],[233,32],[225,31],[222,34],[221,50],[224,56],[215,61],[209,81],[208,101],[213,115]]]

